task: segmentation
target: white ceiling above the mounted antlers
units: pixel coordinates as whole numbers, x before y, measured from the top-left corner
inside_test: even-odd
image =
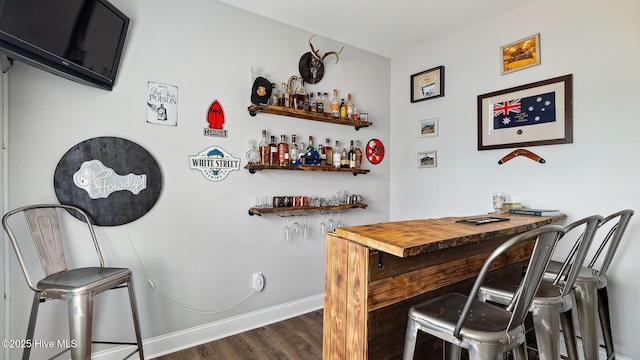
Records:
[[[394,58],[534,0],[220,0]]]

